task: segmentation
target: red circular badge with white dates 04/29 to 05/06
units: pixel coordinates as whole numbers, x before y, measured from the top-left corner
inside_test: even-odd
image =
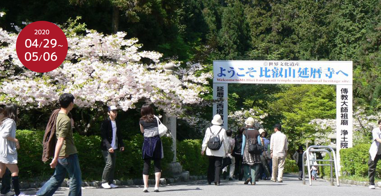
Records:
[[[64,62],[67,39],[57,25],[47,21],[33,22],[19,33],[16,52],[26,68],[45,73],[55,70]]]

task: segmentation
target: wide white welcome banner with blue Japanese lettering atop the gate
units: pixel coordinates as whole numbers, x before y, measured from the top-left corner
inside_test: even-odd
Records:
[[[213,83],[352,85],[351,61],[213,61]]]

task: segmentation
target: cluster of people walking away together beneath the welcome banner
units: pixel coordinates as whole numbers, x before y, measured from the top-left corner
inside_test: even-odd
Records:
[[[274,134],[267,139],[267,132],[255,126],[252,117],[247,118],[245,127],[237,130],[232,138],[232,130],[225,130],[223,120],[216,114],[212,126],[205,130],[201,155],[209,159],[208,183],[219,186],[220,172],[233,178],[244,180],[244,184],[255,185],[259,179],[283,182],[283,169],[287,156],[288,141],[282,131],[282,125],[274,126]],[[218,144],[218,145],[216,145]],[[228,166],[223,162],[230,160]]]

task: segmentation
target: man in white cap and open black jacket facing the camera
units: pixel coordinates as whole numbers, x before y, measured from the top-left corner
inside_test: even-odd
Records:
[[[110,106],[107,114],[109,117],[101,125],[101,149],[104,161],[106,162],[102,175],[102,187],[109,189],[118,187],[113,184],[116,150],[120,149],[120,151],[124,151],[124,144],[118,121],[115,120],[118,115],[117,107]]]

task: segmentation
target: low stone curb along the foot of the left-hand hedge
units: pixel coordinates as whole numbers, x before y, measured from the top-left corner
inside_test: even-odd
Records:
[[[196,181],[196,180],[206,180],[207,176],[205,175],[189,175],[189,172],[187,173],[187,177],[185,176],[179,176],[175,178],[161,178],[160,179],[160,185],[167,185],[167,184],[173,184],[173,183],[178,183],[178,182],[188,182],[188,181]],[[20,189],[37,189],[41,188],[46,181],[44,182],[20,182]],[[142,179],[133,179],[133,180],[114,180],[114,184],[118,186],[139,186],[143,185],[143,180]],[[154,185],[155,180],[150,179],[148,182],[149,185]],[[1,183],[0,183],[1,185]],[[64,182],[62,182],[60,187],[69,187],[69,180],[65,179]],[[93,182],[82,182],[82,187],[101,187],[101,182],[100,181],[93,181]]]

